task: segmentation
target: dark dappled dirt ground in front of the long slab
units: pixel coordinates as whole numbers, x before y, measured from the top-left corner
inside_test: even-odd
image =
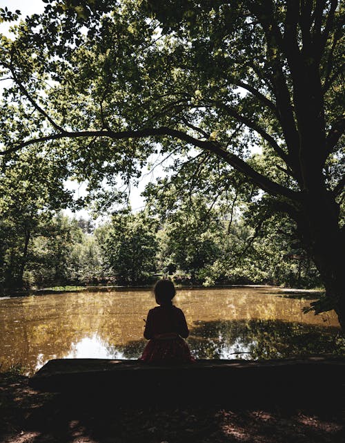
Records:
[[[344,411],[217,404],[127,405],[39,393],[0,373],[1,443],[344,443]]]

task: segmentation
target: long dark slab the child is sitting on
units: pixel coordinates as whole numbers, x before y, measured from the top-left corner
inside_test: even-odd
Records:
[[[30,386],[46,392],[101,395],[114,402],[344,402],[345,358],[198,360],[156,366],[136,360],[55,359]],[[345,404],[345,402],[344,402]]]

